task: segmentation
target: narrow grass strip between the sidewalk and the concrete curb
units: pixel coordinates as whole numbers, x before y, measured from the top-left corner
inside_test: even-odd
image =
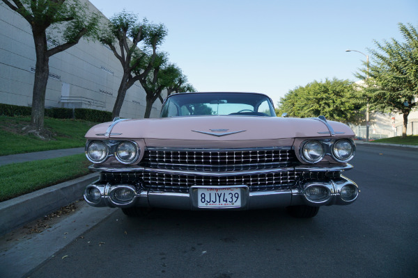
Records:
[[[0,167],[0,202],[88,174],[84,154]]]

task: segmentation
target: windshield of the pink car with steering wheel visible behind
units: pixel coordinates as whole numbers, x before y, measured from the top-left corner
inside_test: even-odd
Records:
[[[170,96],[161,117],[194,115],[242,115],[276,117],[265,95],[237,92],[198,92]]]

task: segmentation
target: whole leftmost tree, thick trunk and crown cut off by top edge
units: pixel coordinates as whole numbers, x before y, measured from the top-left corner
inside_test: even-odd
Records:
[[[49,76],[49,57],[65,51],[81,38],[93,38],[99,16],[88,13],[86,3],[79,0],[1,0],[11,10],[22,15],[32,29],[36,67],[33,82],[31,124],[28,132],[43,138],[45,92]],[[47,39],[58,44],[48,49]],[[61,42],[61,44],[60,44]]]

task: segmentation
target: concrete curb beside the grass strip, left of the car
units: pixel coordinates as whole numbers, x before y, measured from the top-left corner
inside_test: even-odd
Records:
[[[49,186],[0,203],[0,236],[82,198],[98,173]]]

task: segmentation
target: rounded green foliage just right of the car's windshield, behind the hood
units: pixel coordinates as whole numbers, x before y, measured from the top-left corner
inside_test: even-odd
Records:
[[[278,103],[276,113],[290,117],[325,116],[328,120],[355,122],[359,106],[352,98],[353,83],[348,80],[325,79],[290,90]]]

